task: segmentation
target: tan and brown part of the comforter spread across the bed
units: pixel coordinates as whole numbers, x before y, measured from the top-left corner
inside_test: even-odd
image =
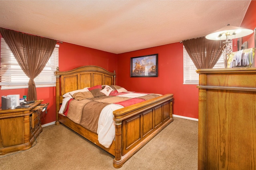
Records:
[[[145,94],[137,98],[118,97],[119,95],[125,94],[120,93],[116,96],[101,96],[96,98],[86,98],[83,94],[86,92],[80,92],[74,96],[74,100],[69,103],[67,110],[67,117],[85,127],[86,129],[97,133],[99,116],[104,107],[109,104],[120,104],[122,106],[129,106],[138,102],[143,102],[152,98],[158,97],[154,94]],[[104,114],[104,113],[102,113]]]

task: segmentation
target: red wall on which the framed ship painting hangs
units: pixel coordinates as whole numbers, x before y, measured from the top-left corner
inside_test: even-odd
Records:
[[[130,58],[158,54],[158,77],[130,77]],[[198,118],[198,88],[183,84],[183,44],[173,43],[118,54],[117,84],[129,91],[174,94],[176,115]]]

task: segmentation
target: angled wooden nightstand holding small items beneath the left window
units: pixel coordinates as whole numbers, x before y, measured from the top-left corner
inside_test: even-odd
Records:
[[[0,155],[32,147],[42,132],[42,110],[48,106],[37,101],[28,108],[0,109]]]

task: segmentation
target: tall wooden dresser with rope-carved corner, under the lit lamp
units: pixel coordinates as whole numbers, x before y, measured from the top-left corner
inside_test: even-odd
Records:
[[[196,72],[198,170],[255,170],[256,68]]]

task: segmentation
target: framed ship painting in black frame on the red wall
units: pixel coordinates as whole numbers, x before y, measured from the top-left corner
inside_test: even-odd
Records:
[[[158,54],[131,58],[131,77],[157,77]]]

